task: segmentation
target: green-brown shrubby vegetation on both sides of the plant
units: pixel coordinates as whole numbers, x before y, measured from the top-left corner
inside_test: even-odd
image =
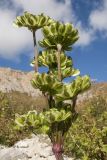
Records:
[[[16,99],[14,95],[17,97]],[[27,129],[23,132],[18,132],[14,128],[15,115],[17,113],[25,113],[25,108],[26,113],[29,109],[31,110],[26,101],[20,106],[18,97],[23,97],[21,100],[28,98],[26,94],[18,92],[9,95],[0,93],[0,144],[11,146],[16,141],[26,138],[31,134],[31,130]],[[11,104],[13,99],[14,107]],[[32,98],[29,97],[29,99],[31,100]],[[41,101],[38,103],[38,106],[40,106]],[[32,106],[32,102],[30,106]],[[77,108],[79,107],[80,105],[78,104]],[[40,112],[39,108],[38,112]],[[107,101],[102,95],[93,97],[81,104],[79,116],[69,129],[64,142],[65,154],[80,160],[106,160],[106,137]]]

